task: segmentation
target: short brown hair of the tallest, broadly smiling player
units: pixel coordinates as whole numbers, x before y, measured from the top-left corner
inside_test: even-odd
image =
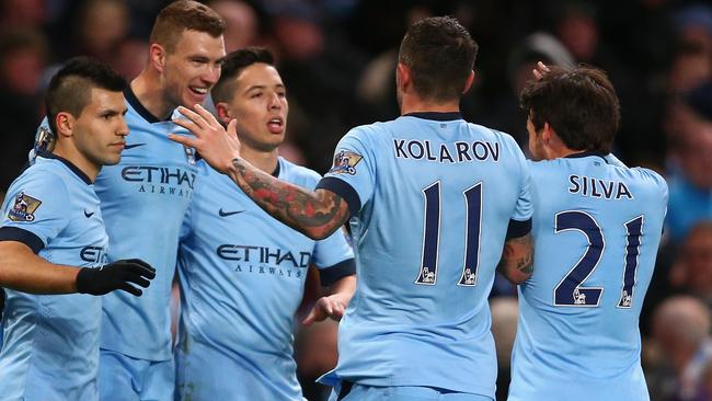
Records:
[[[151,30],[150,43],[157,43],[166,51],[173,53],[185,30],[219,37],[225,32],[225,20],[211,8],[197,1],[175,1],[159,12]]]

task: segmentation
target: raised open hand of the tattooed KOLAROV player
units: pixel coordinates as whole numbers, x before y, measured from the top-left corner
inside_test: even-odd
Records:
[[[193,133],[195,138],[175,134],[170,134],[169,138],[195,148],[208,164],[226,173],[232,167],[232,160],[240,158],[237,121],[230,121],[226,130],[215,116],[199,104],[195,105],[195,111],[183,106],[177,111],[187,119],[175,118],[173,123]]]

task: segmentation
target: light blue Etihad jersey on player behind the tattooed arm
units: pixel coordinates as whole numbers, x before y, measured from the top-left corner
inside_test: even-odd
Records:
[[[320,179],[282,158],[274,175],[309,188]],[[183,229],[180,399],[301,400],[294,316],[310,263],[322,278],[354,273],[343,231],[309,239],[272,218],[204,161]]]

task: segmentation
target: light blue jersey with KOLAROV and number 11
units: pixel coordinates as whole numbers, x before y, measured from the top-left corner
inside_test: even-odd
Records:
[[[358,277],[321,380],[494,398],[487,296],[510,219],[531,216],[528,182],[515,140],[459,113],[352,129],[319,184],[352,210]]]

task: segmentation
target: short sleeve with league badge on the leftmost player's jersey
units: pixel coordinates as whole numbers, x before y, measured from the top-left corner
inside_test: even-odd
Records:
[[[46,171],[34,172],[23,175],[8,190],[0,240],[23,242],[36,253],[69,224],[69,195],[59,177]]]

